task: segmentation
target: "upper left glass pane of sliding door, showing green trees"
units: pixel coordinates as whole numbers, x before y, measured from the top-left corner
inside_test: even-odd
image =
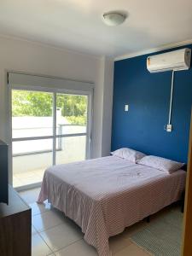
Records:
[[[12,137],[53,135],[53,94],[12,90]]]

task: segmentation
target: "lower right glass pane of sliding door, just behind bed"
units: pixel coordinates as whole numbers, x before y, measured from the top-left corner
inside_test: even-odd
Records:
[[[86,136],[57,138],[60,148],[56,150],[56,165],[86,158]]]

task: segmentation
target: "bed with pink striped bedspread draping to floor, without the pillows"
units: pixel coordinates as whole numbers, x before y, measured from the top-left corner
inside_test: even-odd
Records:
[[[108,238],[179,200],[185,177],[183,170],[166,174],[113,155],[49,167],[38,203],[48,199],[99,256],[108,256]]]

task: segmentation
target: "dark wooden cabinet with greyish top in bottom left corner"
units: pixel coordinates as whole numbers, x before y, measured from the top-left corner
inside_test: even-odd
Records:
[[[0,255],[31,256],[32,211],[9,187],[9,205],[0,203]]]

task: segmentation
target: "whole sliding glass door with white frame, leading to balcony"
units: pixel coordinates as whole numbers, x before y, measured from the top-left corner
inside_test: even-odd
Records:
[[[11,87],[14,187],[42,181],[47,167],[90,157],[91,93]]]

